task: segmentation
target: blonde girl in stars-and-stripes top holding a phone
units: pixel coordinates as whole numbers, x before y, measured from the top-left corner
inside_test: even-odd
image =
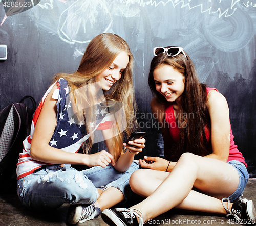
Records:
[[[17,164],[17,193],[24,206],[43,211],[69,203],[67,221],[76,224],[130,196],[129,178],[139,168],[134,155],[145,142],[123,143],[133,129],[127,121],[135,123],[132,67],[127,43],[104,33],[88,44],[76,72],[54,76]],[[108,152],[90,154],[100,140]],[[77,153],[81,145],[84,154]],[[77,171],[71,164],[91,168]]]

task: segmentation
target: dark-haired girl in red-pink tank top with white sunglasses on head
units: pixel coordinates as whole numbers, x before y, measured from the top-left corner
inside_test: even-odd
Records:
[[[143,225],[176,207],[254,222],[252,201],[240,198],[249,175],[233,141],[225,97],[199,82],[181,47],[157,47],[154,54],[148,83],[156,95],[152,112],[165,125],[165,158],[140,160],[145,169],[133,173],[130,185],[145,199],[130,209],[104,210],[103,220]]]

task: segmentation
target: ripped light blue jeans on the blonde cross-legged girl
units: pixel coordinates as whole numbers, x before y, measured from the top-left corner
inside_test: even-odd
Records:
[[[129,179],[139,169],[137,162],[120,173],[110,164],[77,171],[70,165],[46,165],[17,181],[22,204],[32,210],[56,209],[64,203],[91,204],[99,194],[97,188],[115,187],[125,200],[132,194]]]

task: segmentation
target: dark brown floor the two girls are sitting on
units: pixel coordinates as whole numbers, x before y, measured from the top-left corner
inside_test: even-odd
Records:
[[[244,191],[244,198],[253,200],[256,205],[256,179],[250,179]],[[14,194],[0,194],[1,226],[55,226],[67,225],[66,214],[69,205],[63,205],[50,213],[34,213],[23,208]],[[239,225],[223,216],[215,216],[198,212],[170,210],[161,216],[148,221],[152,225]],[[106,226],[101,217],[87,221],[79,226]]]

